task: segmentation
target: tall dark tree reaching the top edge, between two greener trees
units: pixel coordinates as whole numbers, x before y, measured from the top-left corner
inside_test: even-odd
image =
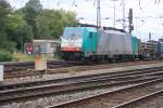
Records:
[[[39,0],[29,0],[23,12],[25,14],[24,18],[28,25],[33,27],[34,38],[38,38],[37,36],[37,28],[36,28],[36,17],[42,10],[42,5]]]

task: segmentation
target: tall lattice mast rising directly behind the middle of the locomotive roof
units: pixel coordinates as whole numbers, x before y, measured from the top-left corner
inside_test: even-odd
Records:
[[[97,27],[101,27],[101,10],[100,10],[100,0],[97,2]]]

